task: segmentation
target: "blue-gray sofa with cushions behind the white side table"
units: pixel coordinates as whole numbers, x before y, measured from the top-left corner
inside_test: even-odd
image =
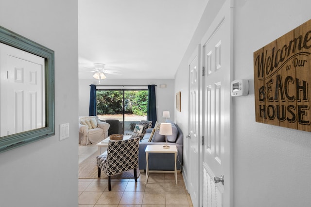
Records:
[[[165,145],[164,135],[159,135],[158,130],[155,130],[155,134],[151,140],[153,128],[149,128],[146,134],[139,143],[138,153],[138,169],[142,173],[146,170],[146,153],[145,149],[149,144]],[[181,172],[183,165],[183,133],[180,128],[172,124],[173,135],[167,136],[168,144],[176,145],[177,147],[177,171]],[[174,154],[172,153],[150,153],[149,154],[149,170],[174,170]]]

